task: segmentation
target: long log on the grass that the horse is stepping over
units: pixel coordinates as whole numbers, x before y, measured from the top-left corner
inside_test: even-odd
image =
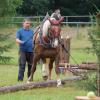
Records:
[[[82,77],[80,76],[73,76],[70,78],[62,79],[62,84],[67,83],[68,81],[76,81],[76,80],[82,80]],[[9,92],[16,92],[20,90],[29,90],[33,88],[41,88],[41,87],[50,87],[50,86],[56,86],[57,81],[56,80],[48,80],[43,82],[31,82],[31,83],[22,83],[17,85],[11,85],[11,86],[4,86],[0,87],[0,94],[1,93],[9,93]]]

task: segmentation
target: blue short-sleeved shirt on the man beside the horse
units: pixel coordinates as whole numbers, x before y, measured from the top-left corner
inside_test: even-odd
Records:
[[[19,48],[21,51],[33,52],[33,34],[31,29],[21,28],[16,32],[16,39],[24,41],[24,44],[20,44]]]

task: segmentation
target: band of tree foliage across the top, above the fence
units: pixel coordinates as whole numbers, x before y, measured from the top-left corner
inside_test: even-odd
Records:
[[[95,13],[100,0],[1,0],[0,16],[45,15],[55,9],[61,9],[62,15],[89,15]],[[84,8],[84,9],[83,9]]]

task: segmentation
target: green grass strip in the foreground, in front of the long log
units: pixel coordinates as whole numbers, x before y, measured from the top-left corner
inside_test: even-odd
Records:
[[[77,95],[86,95],[85,91],[75,88],[41,88],[28,91],[20,91],[1,95],[2,100],[74,100]]]

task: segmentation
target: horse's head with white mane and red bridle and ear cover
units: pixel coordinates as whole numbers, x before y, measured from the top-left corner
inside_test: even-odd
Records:
[[[44,41],[51,41],[53,48],[57,47],[59,44],[58,40],[61,32],[60,23],[63,21],[63,17],[60,19],[57,16],[54,17],[50,17],[47,21],[45,21],[42,35]]]

